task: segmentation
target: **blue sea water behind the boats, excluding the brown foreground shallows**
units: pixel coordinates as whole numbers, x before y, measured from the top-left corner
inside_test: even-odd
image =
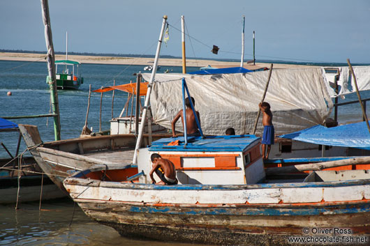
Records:
[[[10,70],[14,68],[13,70]],[[116,85],[136,82],[135,72],[140,72],[144,66],[125,65],[102,65],[82,64],[82,77],[84,84],[77,91],[58,91],[59,111],[61,118],[61,139],[79,137],[87,113],[87,102],[89,97],[89,84],[91,90],[101,86],[112,86],[113,79]],[[181,72],[181,67],[162,66],[159,72],[164,70]],[[199,68],[187,68],[188,72]],[[50,114],[50,91],[46,84],[46,63],[22,62],[22,61],[0,61],[0,117],[4,116],[28,116],[38,114]],[[118,75],[118,76],[117,76]],[[11,91],[13,95],[7,96]],[[127,93],[114,92],[114,112],[117,117],[126,103]],[[88,126],[95,132],[99,130],[101,93],[91,93]],[[131,107],[129,107],[131,109]],[[103,93],[101,116],[101,130],[110,129],[112,118],[112,92]],[[37,125],[43,141],[54,141],[54,125],[52,118],[24,118],[10,120],[15,123]],[[16,151],[17,133],[8,132],[0,134],[3,144],[10,153]],[[26,149],[22,143],[20,151]],[[8,153],[0,146],[0,158],[9,157]]]

